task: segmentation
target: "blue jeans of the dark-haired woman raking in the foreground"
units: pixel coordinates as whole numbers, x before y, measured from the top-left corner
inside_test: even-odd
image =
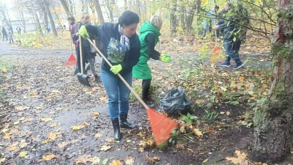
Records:
[[[110,118],[114,119],[119,117],[120,114],[127,114],[130,90],[117,75],[101,69],[101,77],[108,96]],[[130,86],[132,85],[132,72],[122,77]]]

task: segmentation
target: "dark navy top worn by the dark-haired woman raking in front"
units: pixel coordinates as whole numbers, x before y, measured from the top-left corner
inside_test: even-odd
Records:
[[[89,33],[92,33],[95,36],[98,36],[101,38],[102,42],[103,42],[103,55],[108,58],[108,51],[111,51],[111,53],[113,53],[113,49],[111,49],[111,47],[113,47],[112,44],[113,43],[113,38],[115,39],[115,42],[118,43],[118,41],[120,42],[120,33],[118,32],[118,26],[119,24],[113,24],[113,23],[104,23],[101,26],[95,26],[95,25],[86,25],[86,30]],[[112,39],[111,39],[112,38]],[[138,35],[135,33],[133,34],[130,38],[129,38],[129,45],[130,45],[130,49],[129,51],[125,52],[125,56],[123,57],[123,59],[121,59],[121,62],[113,62],[110,61],[112,65],[118,65],[120,64],[122,66],[122,70],[120,71],[120,74],[127,74],[132,72],[132,67],[135,66],[138,63],[139,57],[140,57],[140,41],[138,38]],[[115,47],[119,49],[118,47]],[[121,52],[120,52],[121,53]],[[118,54],[118,53],[117,53]],[[113,74],[110,71],[110,66],[106,63],[106,61],[103,59],[102,60],[102,64],[101,64],[101,69],[107,71],[108,73]]]

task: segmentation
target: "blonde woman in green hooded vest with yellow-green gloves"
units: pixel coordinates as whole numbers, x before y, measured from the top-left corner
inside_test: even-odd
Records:
[[[148,92],[151,86],[151,69],[147,65],[147,61],[151,58],[162,62],[171,62],[170,56],[161,54],[155,50],[155,45],[159,41],[161,35],[163,20],[160,16],[153,15],[150,21],[146,21],[139,29],[139,40],[141,42],[141,56],[137,65],[133,67],[132,74],[134,78],[142,79],[142,100],[152,108]]]

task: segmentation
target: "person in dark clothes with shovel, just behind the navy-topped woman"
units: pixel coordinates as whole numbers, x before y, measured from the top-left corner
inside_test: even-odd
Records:
[[[81,25],[87,25],[90,23],[90,15],[88,13],[83,13],[81,15]],[[75,34],[72,35],[72,39],[78,40],[79,30],[80,28],[75,30]],[[94,39],[94,35],[89,33],[90,39]],[[96,54],[90,51],[90,42],[87,39],[81,38],[81,46],[82,46],[82,56],[83,58],[87,59],[90,63],[90,70],[94,74],[94,78],[96,82],[101,82],[98,74],[96,73],[95,69],[95,57]],[[85,66],[85,65],[84,65]]]

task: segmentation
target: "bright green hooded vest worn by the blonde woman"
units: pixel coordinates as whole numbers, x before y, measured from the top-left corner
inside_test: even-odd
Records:
[[[145,41],[146,36],[149,33],[155,33],[156,39],[155,39],[155,45],[159,41],[159,36],[161,35],[160,31],[156,29],[149,21],[146,21],[139,29],[139,40],[141,43],[141,55],[139,57],[138,63],[133,67],[132,69],[132,76],[134,78],[139,79],[151,79],[151,69],[147,65],[147,61],[150,60],[150,56],[147,54],[147,43]]]

